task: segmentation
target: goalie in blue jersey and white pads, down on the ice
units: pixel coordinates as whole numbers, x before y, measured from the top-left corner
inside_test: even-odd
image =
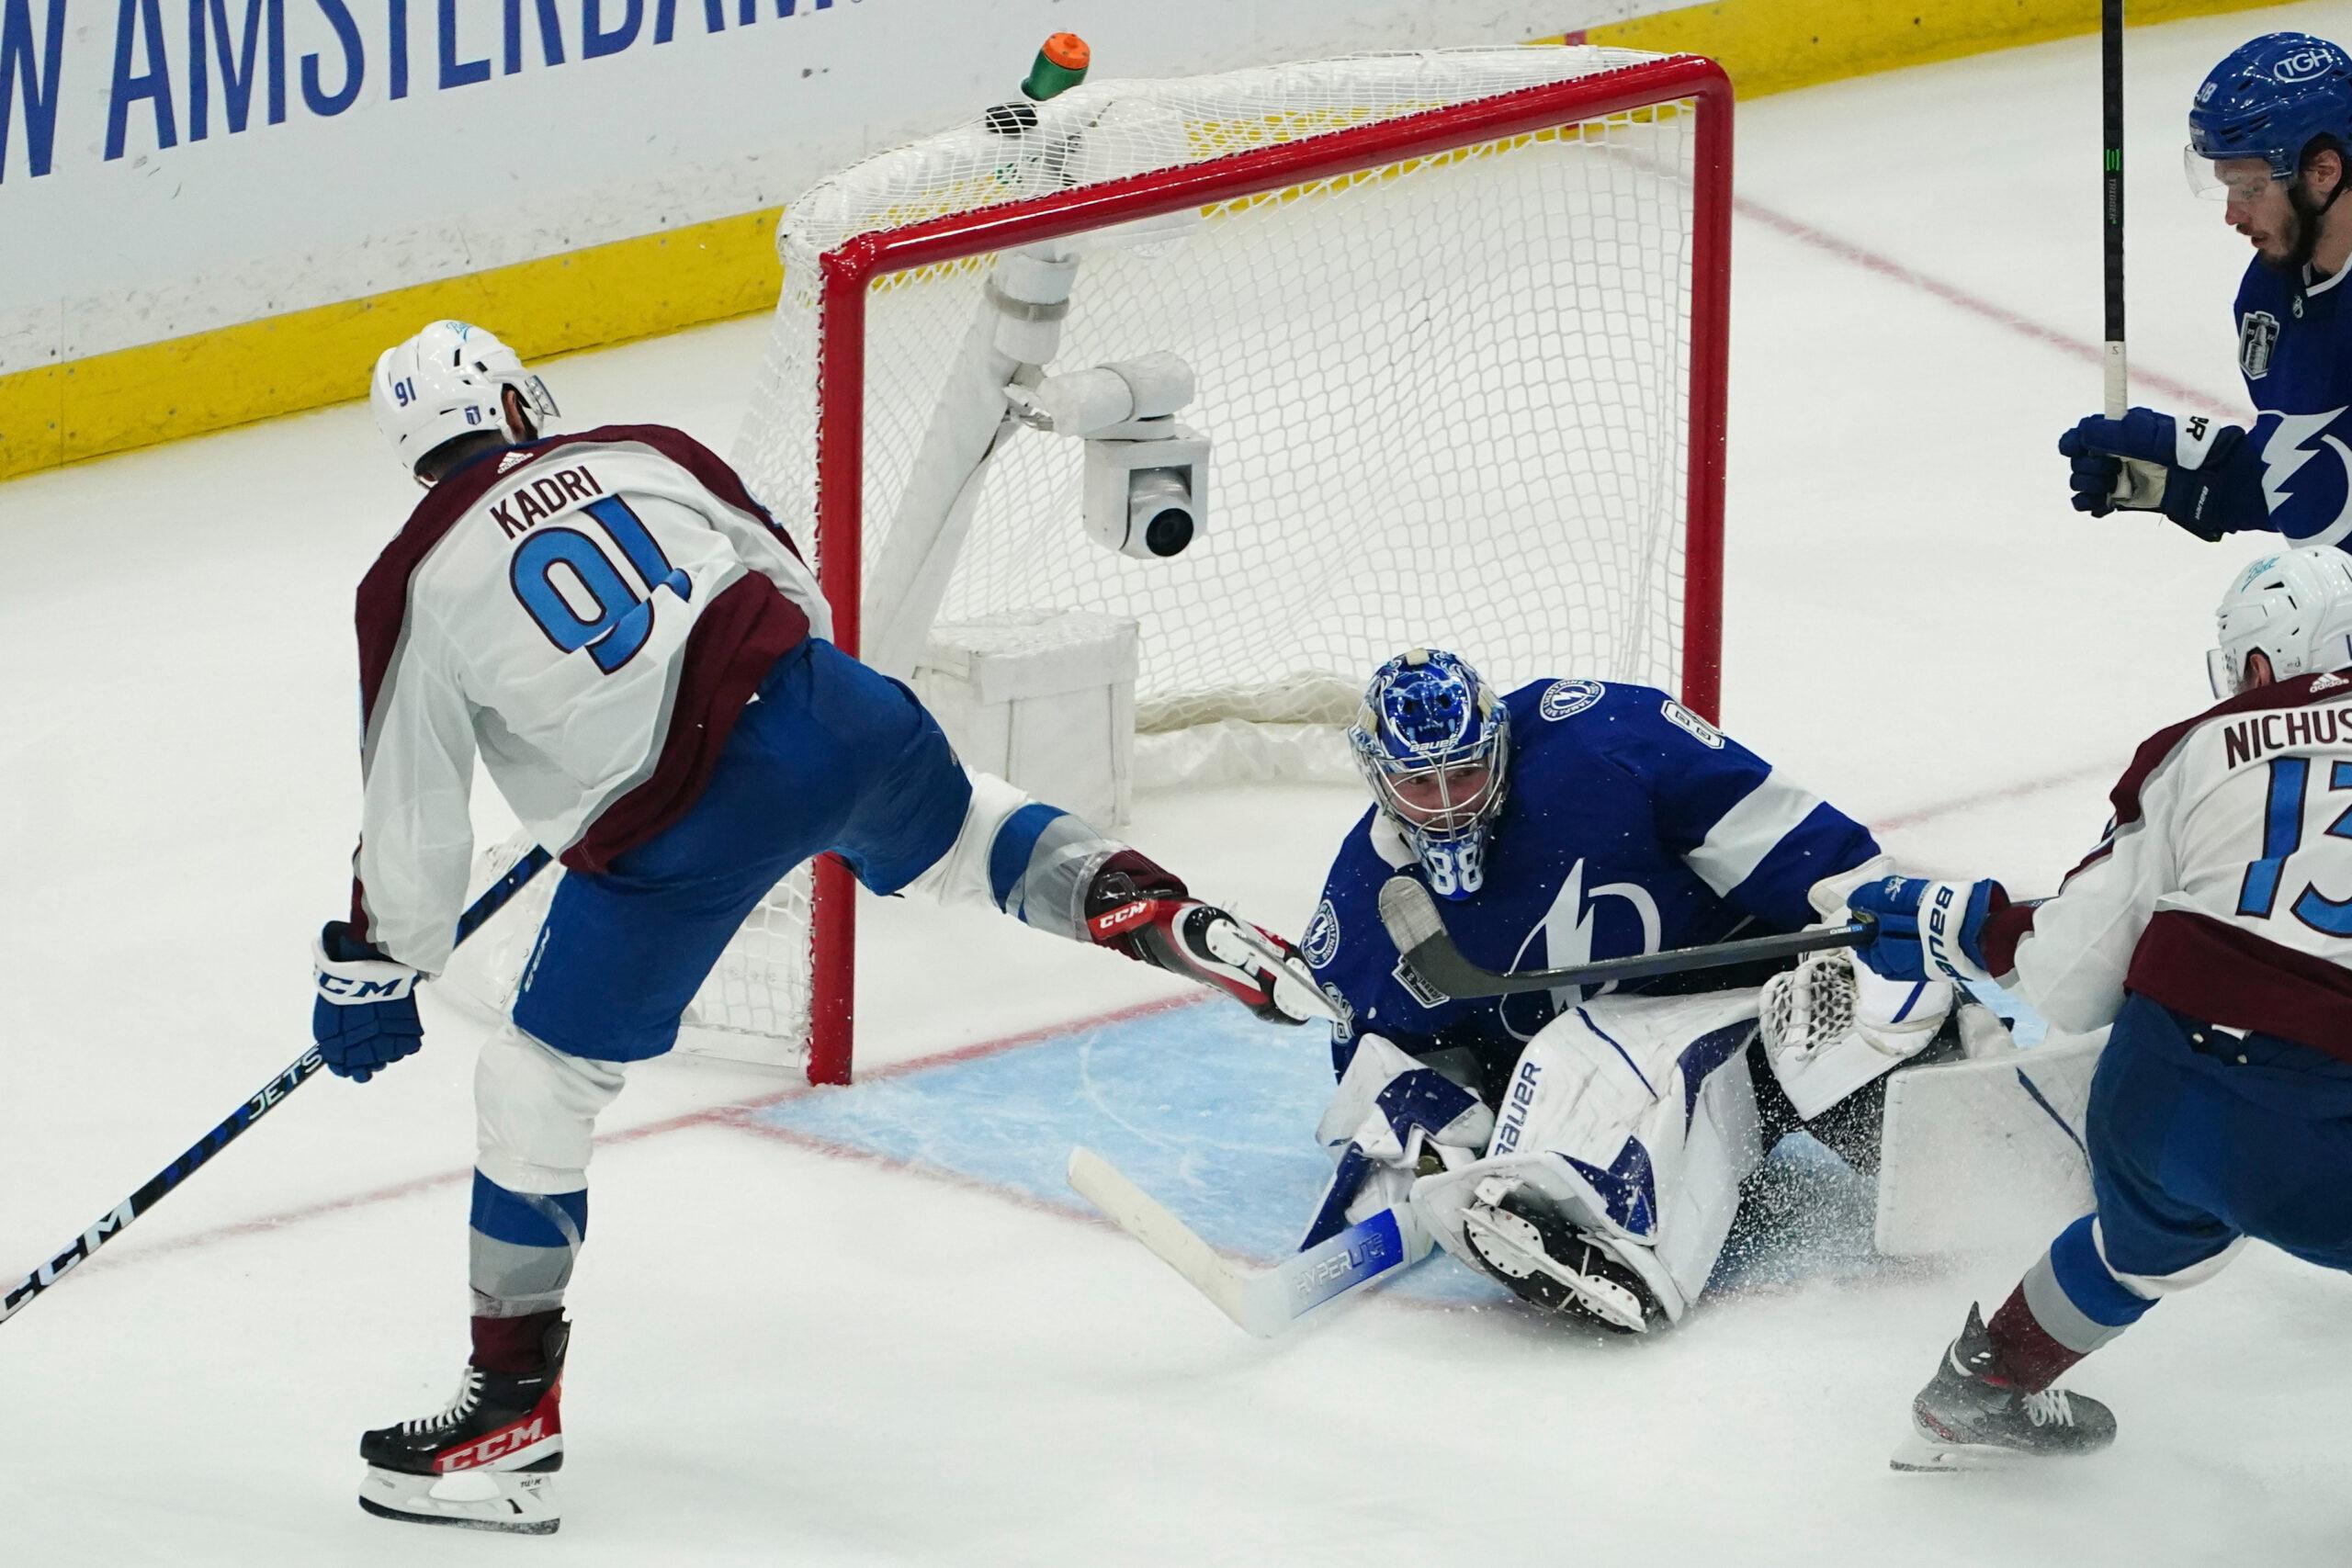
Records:
[[[1343,1016],[1319,1131],[1341,1168],[1310,1241],[1411,1201],[1522,1298],[1649,1331],[1705,1286],[1783,1133],[1875,1166],[1879,1079],[1936,1039],[1947,985],[1858,978],[1839,952],[1762,997],[1738,971],[1444,997],[1378,917],[1381,884],[1418,877],[1494,971],[1795,931],[1889,865],[1860,823],[1665,691],[1498,696],[1430,649],[1374,675],[1350,741],[1374,806],[1303,940]],[[1811,1027],[1832,1013],[1846,1027]]]

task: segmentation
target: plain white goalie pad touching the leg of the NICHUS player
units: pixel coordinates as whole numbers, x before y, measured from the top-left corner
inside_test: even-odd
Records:
[[[2032,1248],[2091,1213],[2084,1107],[2105,1039],[1898,1072],[1886,1084],[1879,1253]]]

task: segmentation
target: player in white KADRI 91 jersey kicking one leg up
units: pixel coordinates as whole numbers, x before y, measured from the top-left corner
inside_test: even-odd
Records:
[[[421,1044],[475,757],[569,875],[475,1072],[466,1378],[447,1410],[362,1439],[360,1502],[543,1533],[597,1112],[795,865],[833,851],[877,893],[988,903],[1263,1018],[1327,1009],[1282,938],[962,769],[906,686],[828,642],[793,541],[684,433],[543,435],[541,378],[463,322],[386,350],[372,404],[428,494],[360,583],[362,835],[350,917],[315,945],[327,1067],[367,1081]]]

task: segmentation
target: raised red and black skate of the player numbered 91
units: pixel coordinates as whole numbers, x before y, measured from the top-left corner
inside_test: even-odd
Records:
[[[1098,947],[1214,985],[1268,1023],[1331,1018],[1331,1004],[1291,943],[1188,898],[1183,879],[1131,849],[1094,872],[1087,936]]]

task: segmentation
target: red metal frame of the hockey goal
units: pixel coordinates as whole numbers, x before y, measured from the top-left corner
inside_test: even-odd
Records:
[[[1686,108],[1684,108],[1686,106]],[[1084,235],[1120,223],[1204,212],[1312,181],[1381,172],[1559,134],[1625,115],[1689,115],[1686,388],[1679,421],[1679,696],[1715,717],[1722,670],[1722,496],[1731,230],[1731,85],[1715,61],[1651,56],[1590,75],[1404,113],[1296,141],[1275,141],[1204,162],[1150,169],[1096,186],[1051,190],[901,228],[856,233],[821,254],[814,421],[814,524],[818,578],[835,614],[835,642],[856,654],[863,611],[868,473],[868,303],[877,287],[920,268]],[[790,266],[790,263],[788,263]],[[1677,261],[1675,266],[1682,266]],[[946,353],[946,350],[941,350]],[[1214,421],[1209,421],[1214,423]],[[750,440],[750,437],[748,437]],[[757,480],[755,480],[757,484]],[[804,517],[779,508],[800,531]],[[1214,541],[1214,522],[1211,541]],[[1073,550],[1089,550],[1073,543]],[[1399,628],[1399,635],[1414,635]],[[1562,670],[1581,675],[1585,670]],[[1362,675],[1362,670],[1357,672]],[[809,1079],[849,1079],[854,1030],[856,900],[844,865],[816,867],[809,964]]]

